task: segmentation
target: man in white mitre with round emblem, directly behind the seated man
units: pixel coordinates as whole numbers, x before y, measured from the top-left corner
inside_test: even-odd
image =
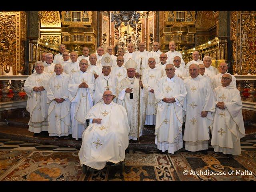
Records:
[[[113,60],[111,56],[106,53],[101,60],[103,73],[95,80],[94,104],[102,101],[104,91],[110,90],[113,95],[116,95],[117,78],[111,72]],[[113,99],[116,102],[116,99]]]

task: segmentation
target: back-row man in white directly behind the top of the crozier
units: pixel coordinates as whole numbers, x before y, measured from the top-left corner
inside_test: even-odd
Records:
[[[150,53],[145,50],[145,43],[140,42],[138,45],[139,50],[136,51],[132,55],[132,60],[134,60],[137,64],[136,68],[136,78],[140,78],[140,75],[143,74],[144,70],[146,68],[149,68],[148,66],[148,58],[150,58]],[[141,69],[140,69],[141,68]]]

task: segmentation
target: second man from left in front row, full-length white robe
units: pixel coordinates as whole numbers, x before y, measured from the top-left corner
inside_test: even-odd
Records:
[[[68,83],[70,75],[63,72],[61,64],[54,66],[55,74],[49,79],[47,98],[49,136],[68,136],[71,134],[70,100]]]

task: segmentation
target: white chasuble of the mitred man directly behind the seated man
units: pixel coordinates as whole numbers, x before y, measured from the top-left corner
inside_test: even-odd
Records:
[[[101,102],[104,91],[110,90],[113,95],[116,95],[116,82],[117,79],[111,73],[108,76],[101,74],[95,80],[94,104]],[[116,99],[113,99],[116,102]]]

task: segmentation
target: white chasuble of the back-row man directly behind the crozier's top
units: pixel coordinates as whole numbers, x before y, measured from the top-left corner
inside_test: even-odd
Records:
[[[136,51],[133,55],[132,55],[132,60],[134,60],[137,63],[137,69],[135,70],[136,73],[139,74],[143,74],[144,70],[146,68],[149,68],[148,66],[148,58],[150,58],[150,53],[148,51]],[[142,63],[141,63],[141,59],[142,59]],[[141,72],[140,72],[140,64],[141,64]]]

